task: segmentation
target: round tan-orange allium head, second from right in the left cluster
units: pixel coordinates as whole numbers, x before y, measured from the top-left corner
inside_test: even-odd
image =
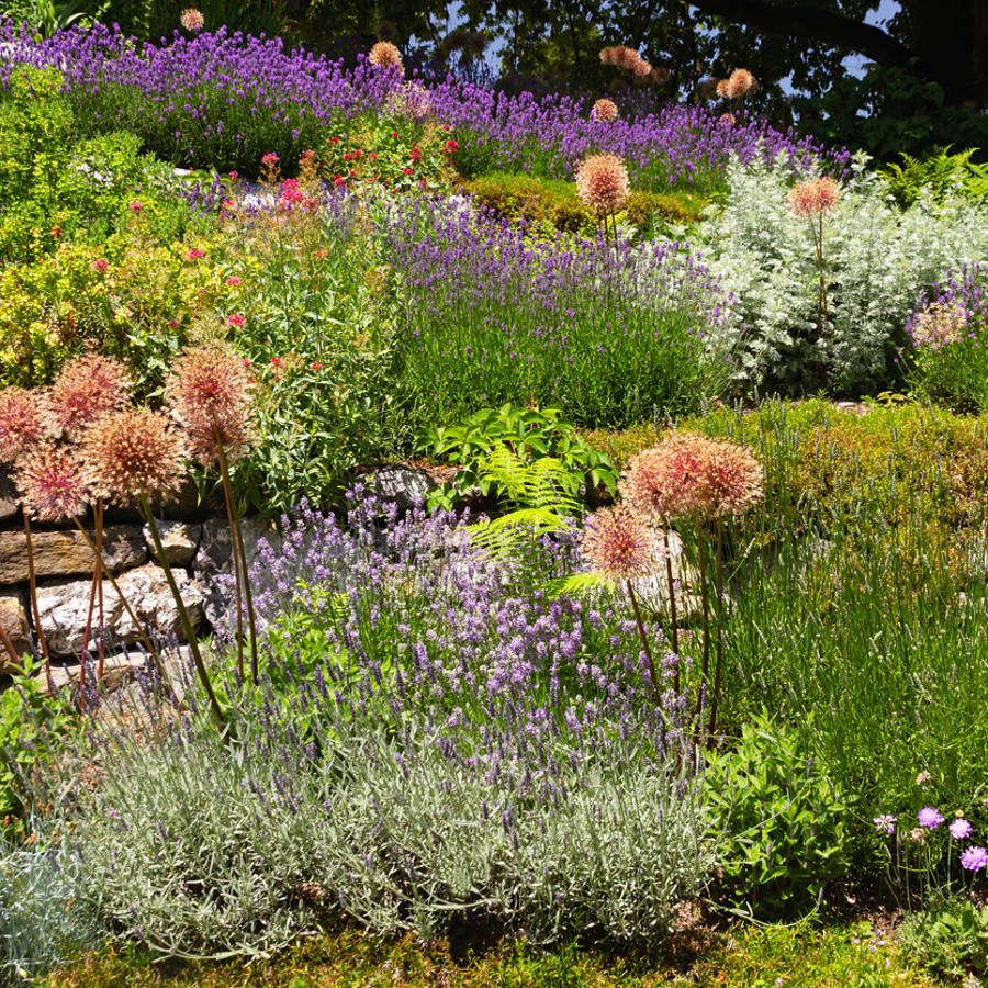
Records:
[[[182,444],[168,419],[149,408],[106,415],[86,434],[81,459],[93,493],[116,504],[178,490]]]

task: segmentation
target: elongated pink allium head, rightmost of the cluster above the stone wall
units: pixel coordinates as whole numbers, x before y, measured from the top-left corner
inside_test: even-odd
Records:
[[[195,460],[214,463],[220,446],[228,460],[244,453],[251,438],[250,388],[244,362],[220,344],[190,347],[179,357],[167,393]]]

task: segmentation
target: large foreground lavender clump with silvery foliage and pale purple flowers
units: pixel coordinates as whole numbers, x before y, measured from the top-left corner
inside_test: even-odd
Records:
[[[359,490],[345,523],[303,509],[258,558],[274,667],[236,738],[194,712],[154,743],[93,731],[88,895],[179,956],[272,950],[339,910],[380,933],[661,940],[712,860],[675,767],[686,711],[671,691],[656,710],[617,602],[537,588],[571,551],[494,563],[451,516]]]

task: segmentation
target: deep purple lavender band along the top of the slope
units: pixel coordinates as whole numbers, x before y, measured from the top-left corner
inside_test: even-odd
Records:
[[[355,68],[280,38],[178,33],[138,45],[117,30],[70,29],[43,42],[0,25],[9,66],[55,66],[66,90],[97,130],[128,128],[148,149],[180,164],[249,169],[265,151],[297,160],[334,133],[334,123],[379,109],[398,85],[400,66]],[[810,142],[754,121],[727,123],[701,108],[625,106],[628,119],[591,120],[591,104],[551,94],[496,93],[452,78],[428,90],[439,119],[450,124],[470,166],[572,176],[583,155],[607,150],[628,159],[637,184],[707,189],[729,156],[771,159],[784,151],[800,171],[822,151]],[[838,155],[831,162],[841,167]]]

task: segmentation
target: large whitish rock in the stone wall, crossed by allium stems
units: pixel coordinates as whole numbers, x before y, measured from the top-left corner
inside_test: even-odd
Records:
[[[182,570],[175,571],[175,580],[193,626],[199,627],[202,620],[202,591]],[[178,607],[159,566],[148,563],[131,570],[121,575],[117,583],[138,621],[148,632],[181,637]],[[82,648],[89,613],[89,587],[88,580],[38,587],[42,629],[54,653],[74,655]],[[127,644],[141,640],[141,629],[131,620],[109,581],[103,582],[103,613],[112,639]]]

